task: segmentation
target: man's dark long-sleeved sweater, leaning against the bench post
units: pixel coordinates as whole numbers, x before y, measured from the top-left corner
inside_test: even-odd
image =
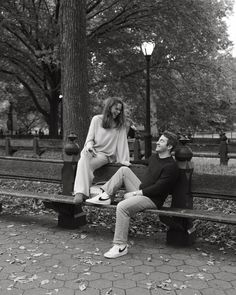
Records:
[[[157,208],[161,208],[166,197],[172,192],[178,176],[179,169],[172,157],[161,159],[158,154],[154,154],[149,158],[147,171],[139,188]]]

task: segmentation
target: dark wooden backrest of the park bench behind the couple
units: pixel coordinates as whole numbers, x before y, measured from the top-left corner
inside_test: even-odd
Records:
[[[62,183],[63,165],[62,160],[0,157],[0,178]],[[75,169],[76,163],[73,166]],[[119,167],[109,164],[96,170],[94,181],[107,181]],[[146,165],[133,164],[131,169],[142,180]],[[236,176],[193,173],[191,191],[194,196],[235,200]]]

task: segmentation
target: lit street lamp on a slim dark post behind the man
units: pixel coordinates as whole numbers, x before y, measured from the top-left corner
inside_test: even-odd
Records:
[[[145,120],[145,158],[151,156],[152,153],[152,135],[151,135],[151,123],[150,123],[150,61],[155,43],[143,42],[141,45],[142,52],[146,59],[146,120]]]

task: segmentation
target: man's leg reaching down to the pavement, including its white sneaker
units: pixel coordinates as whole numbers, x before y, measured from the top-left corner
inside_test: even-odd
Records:
[[[130,217],[145,209],[154,209],[156,205],[145,196],[132,196],[121,201],[116,207],[116,225],[114,246],[104,254],[106,258],[116,258],[128,253],[127,242]]]

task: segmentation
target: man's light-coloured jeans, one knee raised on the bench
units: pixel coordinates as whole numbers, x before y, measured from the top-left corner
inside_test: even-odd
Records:
[[[141,181],[128,167],[121,167],[102,189],[113,195],[124,184],[127,192],[138,191]],[[127,244],[130,217],[145,209],[154,209],[156,205],[151,199],[143,195],[130,196],[119,202],[116,207],[116,226],[113,239],[114,244]]]

